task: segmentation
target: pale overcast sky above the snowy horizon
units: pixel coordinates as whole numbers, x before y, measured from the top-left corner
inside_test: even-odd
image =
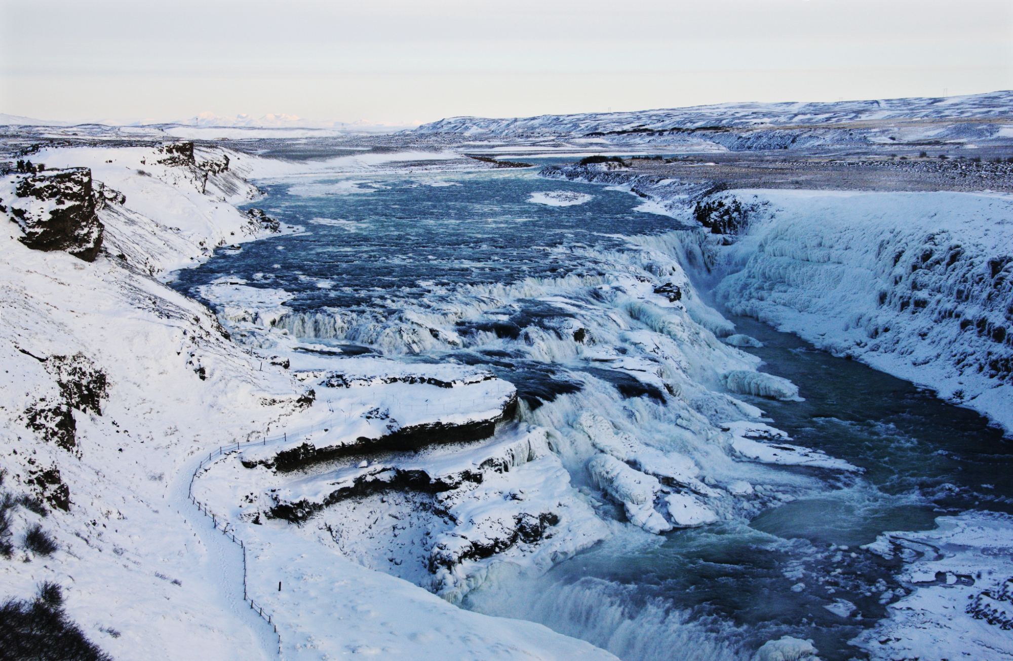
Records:
[[[0,113],[428,122],[1013,88],[1011,0],[0,0]]]

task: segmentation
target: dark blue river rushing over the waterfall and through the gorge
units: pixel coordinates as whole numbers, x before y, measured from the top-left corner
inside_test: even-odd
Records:
[[[682,225],[636,211],[628,193],[530,171],[264,188],[255,206],[308,231],[221,250],[181,272],[179,289],[242,279],[293,294],[278,325],[317,346],[486,366],[518,386],[523,416],[558,431],[578,487],[590,481],[570,425],[594,411],[648,444],[668,439],[665,449],[707,474],[793,494],[777,508],[660,536],[617,523],[611,539],[543,577],[489,580],[468,607],[541,621],[630,661],[745,659],[785,634],[812,639],[823,658],[848,659],[860,654],[847,641],[905,594],[895,568],[861,544],[884,530],[929,528],[943,513],[1013,510],[1003,479],[1013,456],[987,421],[751,319],[731,318],[765,343],[747,351],[805,400],[741,398],[795,443],[864,474],[745,464],[686,440],[684,400],[718,417],[729,405],[687,379],[714,381],[714,368],[692,356],[680,369],[658,360],[669,350],[659,322],[610,285],[676,271],[624,236]],[[720,325],[693,304],[701,323]],[[607,504],[600,513],[624,518]],[[840,600],[854,612],[842,615]]]

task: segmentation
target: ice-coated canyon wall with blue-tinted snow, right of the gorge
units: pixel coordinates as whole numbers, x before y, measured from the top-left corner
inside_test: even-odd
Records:
[[[1013,429],[1013,199],[736,192],[768,201],[715,248],[736,314],[796,333]]]

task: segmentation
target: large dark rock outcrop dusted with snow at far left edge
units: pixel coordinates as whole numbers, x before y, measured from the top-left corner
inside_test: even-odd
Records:
[[[104,226],[95,216],[91,170],[42,170],[8,176],[0,185],[0,212],[24,232],[19,240],[36,250],[66,250],[93,262]]]

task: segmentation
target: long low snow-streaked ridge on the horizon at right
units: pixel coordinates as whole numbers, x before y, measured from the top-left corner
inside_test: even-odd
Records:
[[[1010,118],[1013,91],[944,98],[895,98],[867,101],[720,103],[636,113],[543,115],[533,118],[459,117],[425,124],[417,133],[460,133],[478,137],[530,137],[592,133],[668,131],[679,128],[819,126],[872,120],[946,120]]]

